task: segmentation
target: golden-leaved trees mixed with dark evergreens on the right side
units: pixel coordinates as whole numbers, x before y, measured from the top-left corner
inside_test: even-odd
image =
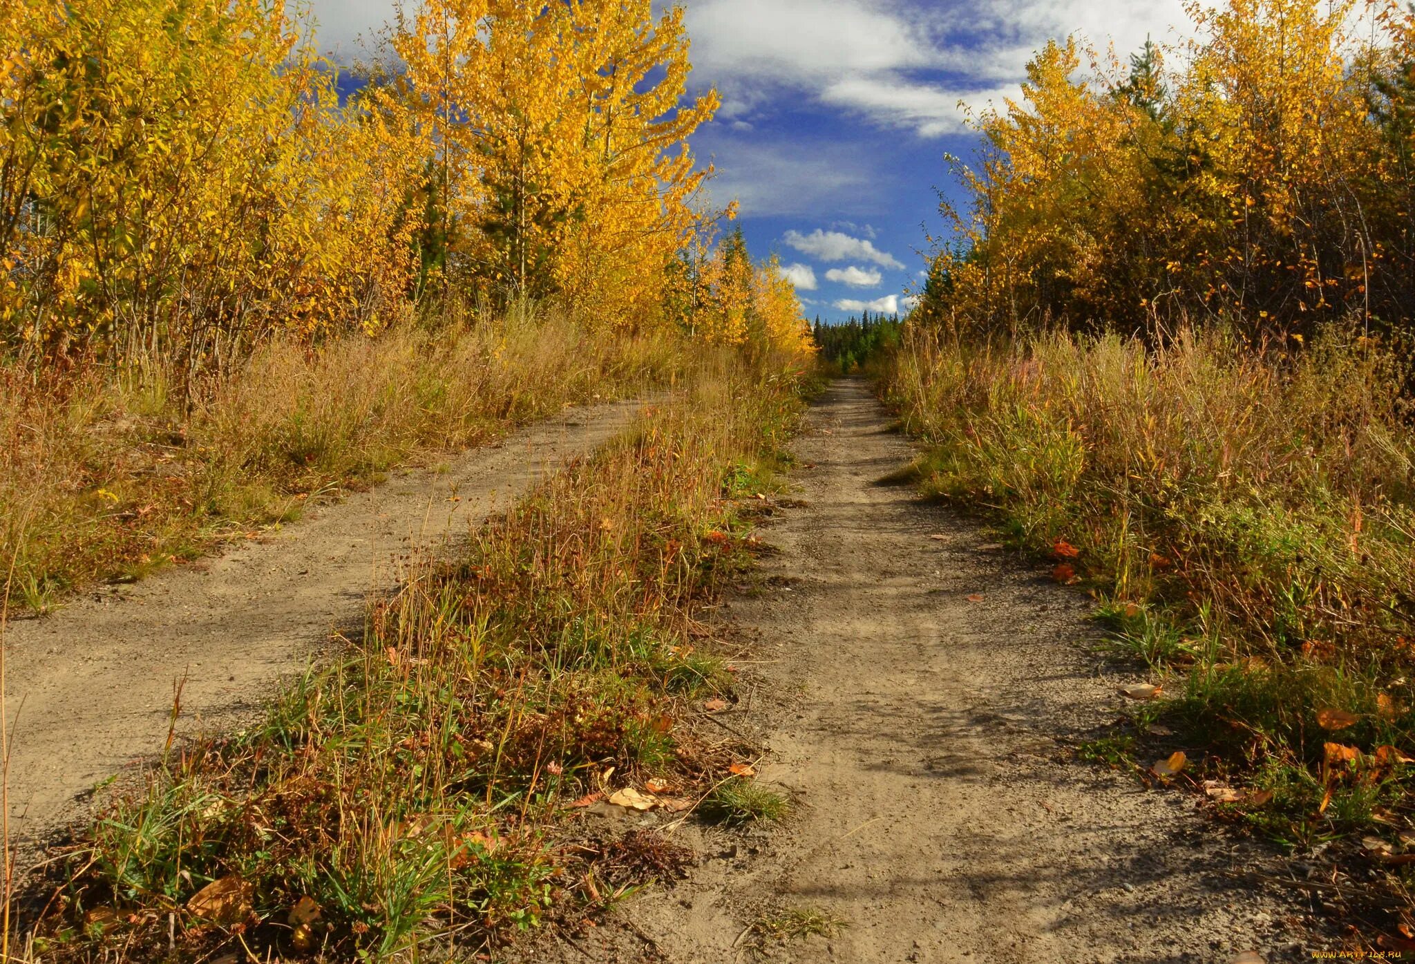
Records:
[[[1016,330],[1215,319],[1251,338],[1415,303],[1415,30],[1387,0],[1190,6],[1166,69],[1146,45],[1080,74],[1049,44],[1017,102],[974,119],[968,208],[921,317]],[[1365,24],[1358,31],[1351,24]],[[1095,61],[1097,58],[1092,58]]]

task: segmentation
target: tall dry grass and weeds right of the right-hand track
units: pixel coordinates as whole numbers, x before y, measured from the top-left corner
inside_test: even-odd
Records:
[[[932,443],[927,487],[1075,569],[1121,644],[1169,677],[1140,729],[1163,716],[1183,740],[1165,749],[1201,759],[1194,779],[1258,791],[1225,813],[1306,847],[1415,830],[1402,378],[1337,333],[1261,358],[1217,335],[1150,351],[914,331],[890,392]]]

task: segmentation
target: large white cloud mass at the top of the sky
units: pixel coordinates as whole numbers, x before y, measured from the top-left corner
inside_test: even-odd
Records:
[[[785,89],[923,137],[964,130],[959,102],[1016,95],[1047,40],[1114,40],[1124,58],[1191,30],[1184,0],[695,0],[688,28],[698,76],[723,89],[733,119],[774,109]]]

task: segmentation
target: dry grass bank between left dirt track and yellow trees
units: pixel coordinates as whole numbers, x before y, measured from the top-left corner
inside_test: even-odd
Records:
[[[365,484],[570,403],[665,384],[665,335],[604,338],[514,313],[311,350],[263,345],[190,411],[161,372],[42,382],[0,367],[0,559],[45,610],[85,583],[192,558]]]

